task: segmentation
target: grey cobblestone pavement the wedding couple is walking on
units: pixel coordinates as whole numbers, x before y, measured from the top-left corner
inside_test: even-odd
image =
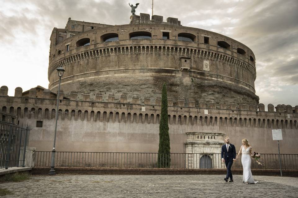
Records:
[[[298,197],[298,178],[242,175],[33,175],[24,182],[0,183],[4,197]]]

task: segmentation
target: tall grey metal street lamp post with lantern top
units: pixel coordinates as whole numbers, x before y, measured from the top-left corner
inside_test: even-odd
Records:
[[[54,167],[55,167],[55,144],[56,144],[56,132],[57,132],[57,119],[58,119],[58,107],[59,107],[59,95],[60,95],[60,84],[61,84],[61,77],[64,73],[63,67],[58,67],[56,69],[58,71],[58,76],[59,76],[59,86],[58,86],[58,94],[57,94],[57,108],[56,108],[56,123],[55,123],[55,136],[54,136],[54,145],[53,145],[53,150],[52,150],[52,158],[51,158],[51,170],[49,174],[56,174]]]

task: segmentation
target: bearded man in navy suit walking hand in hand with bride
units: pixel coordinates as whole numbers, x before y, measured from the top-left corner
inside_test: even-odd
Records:
[[[230,144],[229,137],[226,137],[224,141],[226,144],[221,147],[221,161],[224,162],[227,167],[227,176],[224,180],[228,182],[228,179],[230,178],[230,182],[233,182],[231,167],[233,165],[233,161],[236,159],[236,148],[233,144]]]

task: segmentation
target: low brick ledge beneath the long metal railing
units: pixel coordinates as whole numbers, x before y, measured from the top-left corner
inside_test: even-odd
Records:
[[[50,167],[33,167],[32,174],[48,174]],[[226,169],[186,168],[80,168],[56,167],[57,174],[226,174]],[[233,174],[242,174],[242,169],[232,169]],[[279,176],[276,169],[251,169],[253,175]],[[283,176],[298,177],[298,170],[282,170]]]

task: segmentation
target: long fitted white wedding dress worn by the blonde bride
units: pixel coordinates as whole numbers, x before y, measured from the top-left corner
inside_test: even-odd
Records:
[[[254,181],[254,178],[251,174],[251,155],[250,155],[250,149],[251,147],[248,147],[244,149],[244,146],[242,147],[242,157],[241,162],[243,166],[243,182],[247,183],[258,183]]]

